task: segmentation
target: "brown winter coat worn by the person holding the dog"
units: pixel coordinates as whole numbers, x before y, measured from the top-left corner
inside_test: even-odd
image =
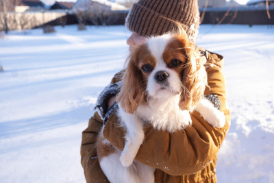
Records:
[[[208,57],[208,85],[205,95],[216,94],[221,101],[221,111],[225,113],[226,124],[217,129],[208,124],[198,112],[191,114],[192,125],[170,134],[166,131],[145,127],[145,141],[141,145],[136,160],[155,167],[155,182],[217,182],[217,153],[225,139],[230,125],[227,108],[225,78],[221,68],[223,57],[210,54]],[[117,77],[112,83],[117,82]],[[115,147],[123,150],[125,145],[123,127],[116,125],[119,119],[112,113],[105,125],[103,136]],[[108,182],[97,159],[96,138],[102,121],[95,112],[82,136],[81,156],[86,181]],[[121,182],[122,183],[122,182]]]

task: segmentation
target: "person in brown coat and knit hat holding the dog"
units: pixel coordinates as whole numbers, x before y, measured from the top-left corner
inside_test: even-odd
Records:
[[[197,0],[140,0],[132,6],[126,19],[126,27],[132,31],[127,40],[129,50],[145,42],[145,36],[162,35],[181,23],[188,38],[195,42],[199,28],[199,10]],[[230,113],[227,108],[225,79],[221,71],[223,57],[201,49],[201,55],[207,59],[208,86],[205,97],[214,106],[224,112],[226,124],[221,129],[208,124],[198,112],[192,112],[192,125],[179,132],[163,132],[147,125],[145,141],[140,146],[136,160],[155,167],[155,182],[217,182],[217,153],[225,139],[230,125]],[[112,84],[121,80],[117,73]],[[88,127],[83,132],[81,157],[86,182],[108,182],[97,159],[97,135],[105,124],[103,136],[116,148],[123,150],[125,130],[116,125],[115,101],[116,88],[105,91],[101,105],[97,106],[104,114],[104,121],[95,112]]]

